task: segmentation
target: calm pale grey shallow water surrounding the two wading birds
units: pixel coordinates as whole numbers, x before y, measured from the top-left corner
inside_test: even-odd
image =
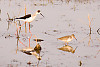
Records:
[[[43,39],[39,42],[42,51],[42,60],[39,61],[35,56],[30,56],[17,51],[17,38],[15,36],[16,25],[10,21],[8,28],[8,15],[10,18],[19,17],[26,13],[35,13],[40,9],[45,16],[38,15],[31,23],[31,47],[35,47],[37,38]],[[100,28],[100,1],[34,1],[34,0],[0,0],[0,67],[79,67],[80,61],[83,67],[100,66],[100,35],[97,30]],[[89,20],[91,21],[92,34],[89,36]],[[23,23],[23,22],[22,22]],[[64,46],[64,42],[57,40],[62,36],[75,34],[77,41],[73,39],[69,45],[75,49],[74,54],[64,52],[58,48]],[[10,36],[9,36],[10,35]],[[20,41],[28,46],[28,32],[25,34],[24,26],[22,27]],[[6,38],[5,38],[6,37]],[[90,45],[88,45],[90,39]],[[19,43],[19,49],[24,46]],[[98,53],[98,54],[97,54]],[[96,57],[95,57],[96,56]],[[28,62],[32,64],[28,65]]]

